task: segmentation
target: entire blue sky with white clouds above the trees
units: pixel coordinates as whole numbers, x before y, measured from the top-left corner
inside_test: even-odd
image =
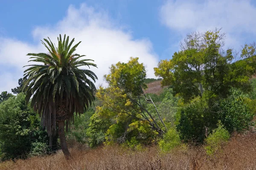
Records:
[[[102,84],[111,64],[139,57],[148,77],[192,31],[222,28],[226,48],[256,41],[256,0],[6,0],[0,10],[0,92],[17,86],[30,52],[58,34],[82,41]]]

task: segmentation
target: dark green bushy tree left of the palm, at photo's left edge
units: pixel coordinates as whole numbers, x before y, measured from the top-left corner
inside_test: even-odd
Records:
[[[1,103],[0,117],[1,159],[24,158],[33,149],[33,143],[48,144],[47,133],[36,114],[26,107],[23,94]]]

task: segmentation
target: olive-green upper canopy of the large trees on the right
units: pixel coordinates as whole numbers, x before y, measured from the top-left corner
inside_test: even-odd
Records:
[[[256,71],[256,45],[245,45],[241,60],[234,63],[233,51],[222,51],[223,45],[220,29],[189,34],[181,43],[182,51],[175,52],[169,61],[161,60],[154,68],[155,75],[163,78],[163,86],[171,85],[185,102],[202,97],[204,91],[224,98],[232,87],[247,91],[249,79]]]

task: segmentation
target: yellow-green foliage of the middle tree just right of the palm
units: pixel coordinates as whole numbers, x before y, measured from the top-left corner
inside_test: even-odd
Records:
[[[107,131],[104,130],[106,144],[124,143],[131,141],[132,137],[140,143],[149,144],[163,133],[157,114],[148,109],[148,105],[152,104],[143,93],[145,77],[145,67],[138,62],[138,58],[112,65],[110,74],[105,75],[109,86],[105,89],[100,87],[97,91],[96,96],[102,105],[96,108],[93,115],[96,120],[91,120],[96,125],[103,123],[102,119],[109,122],[108,127],[103,125],[103,129],[107,128]],[[90,126],[94,126],[93,122]],[[94,141],[96,144],[97,140]]]

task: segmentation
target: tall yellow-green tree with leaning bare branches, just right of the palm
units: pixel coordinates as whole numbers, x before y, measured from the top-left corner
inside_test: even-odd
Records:
[[[147,134],[157,133],[162,136],[167,130],[153,100],[144,94],[143,89],[147,88],[146,71],[143,63],[139,63],[138,59],[131,57],[127,63],[118,62],[111,65],[110,73],[104,76],[108,88],[100,87],[96,93],[97,98],[102,102],[102,105],[96,108],[96,113],[113,117],[113,121],[116,122],[108,133],[123,130],[123,133],[119,133],[122,134],[121,136],[111,135],[118,136],[118,142],[127,140],[135,124],[136,130],[140,126],[143,127],[141,129],[145,127],[147,129],[145,132],[150,132]],[[149,111],[148,105],[153,105],[154,111]],[[120,124],[122,128],[117,128]]]

